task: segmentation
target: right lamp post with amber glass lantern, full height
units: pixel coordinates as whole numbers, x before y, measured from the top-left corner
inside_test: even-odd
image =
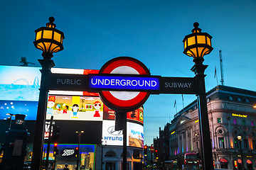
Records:
[[[204,74],[208,65],[203,65],[203,56],[210,54],[213,50],[211,47],[211,36],[208,33],[201,33],[201,28],[198,28],[199,24],[194,23],[194,28],[190,35],[186,35],[183,39],[184,51],[183,53],[193,57],[194,66],[191,71],[196,74],[198,94],[198,119],[200,128],[200,140],[201,140],[201,153],[203,169],[211,170],[213,168],[213,153],[210,140],[210,128],[208,120],[207,102],[206,102],[206,85]]]

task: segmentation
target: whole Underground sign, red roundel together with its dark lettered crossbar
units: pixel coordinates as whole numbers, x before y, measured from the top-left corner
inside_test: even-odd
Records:
[[[113,110],[133,111],[150,94],[198,94],[197,78],[151,76],[149,69],[132,57],[105,63],[99,74],[51,74],[50,90],[97,92]]]

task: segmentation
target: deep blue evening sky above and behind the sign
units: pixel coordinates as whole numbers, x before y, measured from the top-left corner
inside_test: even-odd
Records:
[[[205,57],[206,90],[213,89],[214,68],[220,82],[222,50],[225,85],[256,91],[255,0],[26,0],[0,2],[0,64],[19,65],[21,57],[36,63],[34,30],[55,17],[65,33],[64,50],[54,55],[55,67],[100,69],[114,57],[130,56],[152,75],[193,77],[192,58],[183,54],[183,38],[198,22],[213,36],[214,50]],[[33,65],[31,65],[33,66]],[[196,96],[184,95],[184,106]],[[151,144],[159,127],[183,108],[181,95],[151,95],[144,104],[144,140]]]

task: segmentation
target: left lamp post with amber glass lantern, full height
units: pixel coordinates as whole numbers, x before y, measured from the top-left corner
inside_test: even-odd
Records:
[[[31,169],[38,170],[42,167],[43,156],[43,135],[46,123],[46,104],[48,99],[48,85],[50,83],[50,69],[55,66],[53,60],[53,52],[63,50],[64,33],[55,28],[54,18],[49,18],[49,23],[46,27],[41,27],[35,30],[36,39],[33,42],[35,47],[42,50],[43,60],[40,62],[41,71],[41,86],[38,100],[38,112],[36,115],[35,137],[33,142],[33,157]]]

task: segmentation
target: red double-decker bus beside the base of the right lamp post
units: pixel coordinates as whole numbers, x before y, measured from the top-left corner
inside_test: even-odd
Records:
[[[186,170],[198,170],[200,160],[196,153],[188,152],[184,156],[184,166],[183,169]]]

